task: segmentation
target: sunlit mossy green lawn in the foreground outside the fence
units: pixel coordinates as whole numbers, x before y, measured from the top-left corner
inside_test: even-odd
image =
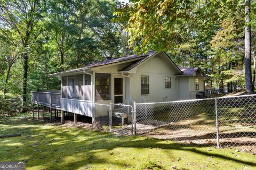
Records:
[[[25,118],[0,117],[0,161],[26,161],[27,169],[256,169],[256,156],[233,149],[67,128]]]

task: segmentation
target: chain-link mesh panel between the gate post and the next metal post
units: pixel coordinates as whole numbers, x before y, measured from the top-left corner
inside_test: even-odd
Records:
[[[214,99],[137,104],[137,133],[173,141],[214,143]]]

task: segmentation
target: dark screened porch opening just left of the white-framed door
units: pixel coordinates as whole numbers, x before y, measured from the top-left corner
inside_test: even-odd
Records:
[[[96,100],[110,100],[110,76],[111,74],[95,73]]]

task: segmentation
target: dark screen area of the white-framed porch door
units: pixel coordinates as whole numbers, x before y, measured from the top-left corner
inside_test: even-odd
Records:
[[[123,78],[114,78],[114,103],[124,103]]]

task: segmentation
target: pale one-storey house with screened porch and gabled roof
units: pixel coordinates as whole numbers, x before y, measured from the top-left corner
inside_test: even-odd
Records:
[[[204,91],[199,67],[178,67],[163,51],[107,59],[51,76],[61,78],[61,97],[54,97],[60,101],[44,99],[44,105],[90,117],[94,104],[195,99]],[[38,95],[32,92],[33,103],[42,103]]]

